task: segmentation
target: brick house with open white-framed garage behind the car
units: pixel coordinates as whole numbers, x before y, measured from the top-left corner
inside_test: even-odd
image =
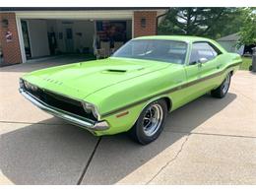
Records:
[[[0,8],[0,66],[157,34],[167,8]]]

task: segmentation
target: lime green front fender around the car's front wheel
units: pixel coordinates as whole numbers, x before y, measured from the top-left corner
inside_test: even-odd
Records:
[[[154,100],[165,98],[172,105],[168,90],[177,87],[179,79],[185,81],[183,66],[175,65],[149,74],[147,77],[137,78],[103,89],[85,99],[96,103],[100,120],[106,120],[110,129],[97,132],[96,135],[115,134],[128,131],[136,122],[141,111]],[[118,114],[127,113],[121,117]]]

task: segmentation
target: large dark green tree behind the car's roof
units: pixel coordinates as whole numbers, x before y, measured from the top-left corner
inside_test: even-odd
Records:
[[[241,13],[239,8],[170,8],[159,33],[218,38],[239,31]]]

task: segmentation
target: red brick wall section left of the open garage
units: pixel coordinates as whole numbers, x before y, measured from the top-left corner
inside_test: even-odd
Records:
[[[2,24],[8,20],[8,26]],[[12,41],[7,42],[6,32],[12,32]],[[0,40],[3,52],[3,64],[22,63],[22,55],[19,44],[19,36],[14,13],[0,13]]]

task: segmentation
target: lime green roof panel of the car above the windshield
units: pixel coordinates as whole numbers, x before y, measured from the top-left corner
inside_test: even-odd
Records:
[[[211,41],[210,38],[200,37],[200,36],[189,36],[189,35],[151,35],[151,36],[140,36],[134,39],[161,39],[161,40],[180,40],[186,42],[193,41]]]

